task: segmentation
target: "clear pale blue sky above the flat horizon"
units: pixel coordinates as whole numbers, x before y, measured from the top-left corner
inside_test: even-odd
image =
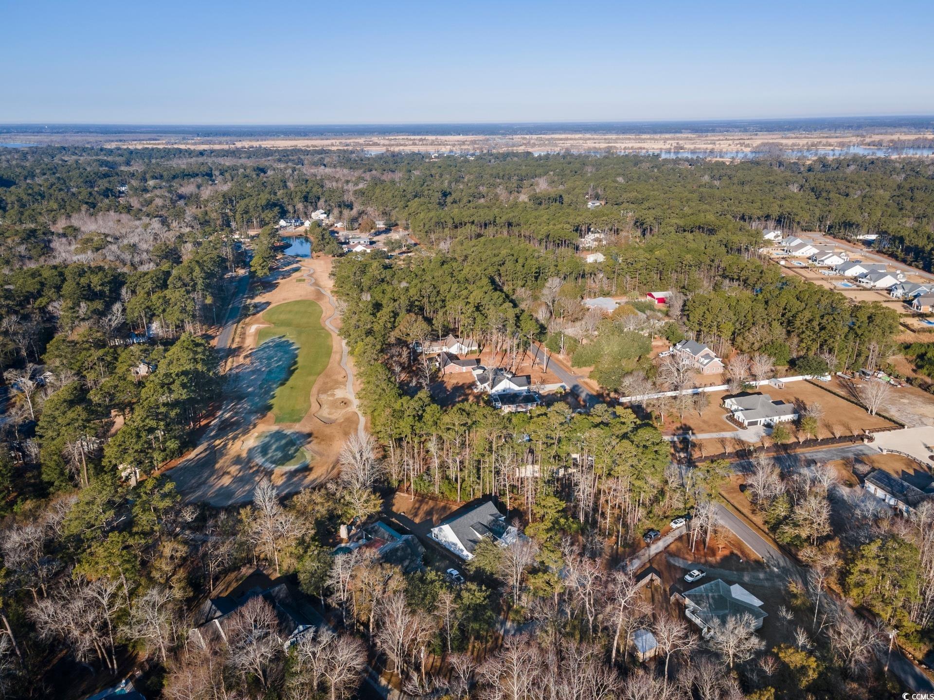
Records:
[[[0,0],[0,122],[934,114],[934,2]]]

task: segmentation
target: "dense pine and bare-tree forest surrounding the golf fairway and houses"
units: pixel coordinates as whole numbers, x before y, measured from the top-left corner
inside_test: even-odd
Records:
[[[889,354],[895,312],[782,275],[760,257],[760,229],[878,233],[886,253],[930,269],[932,173],[910,159],[0,149],[0,691],[77,698],[145,668],[148,697],[334,699],[373,665],[414,697],[886,696],[878,630],[845,601],[927,648],[931,512],[859,511],[839,537],[827,469],[759,460],[750,499],[810,572],[770,619],[795,643],[763,650],[744,627],[701,640],[653,619],[616,567],[689,509],[692,546],[716,530],[729,464],[681,469],[658,429],[685,407],[442,406],[411,348],[455,333],[515,362],[543,343],[592,366],[601,399],[680,388],[647,359],[656,336],[859,369]],[[318,488],[280,499],[262,481],[239,507],[185,502],[160,472],[222,395],[211,335],[240,275],[275,271],[278,219],[318,208],[347,230],[399,224],[418,244],[334,262],[372,437],[349,441],[340,478]],[[604,259],[587,264],[591,233]],[[309,236],[338,254],[326,230]],[[660,288],[667,310],[638,301]],[[604,317],[582,303],[601,295],[633,301]],[[492,498],[524,536],[479,548],[460,586],[335,554],[340,526],[397,490]],[[191,643],[205,598],[254,566],[289,577],[327,623],[286,648],[258,602],[225,643]],[[629,651],[646,626],[664,639],[663,671]]]

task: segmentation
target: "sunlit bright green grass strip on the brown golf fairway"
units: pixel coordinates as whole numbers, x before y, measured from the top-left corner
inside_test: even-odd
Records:
[[[259,343],[286,338],[298,346],[295,371],[273,395],[276,423],[298,423],[311,408],[311,387],[331,359],[331,333],[321,325],[315,301],[287,301],[263,312],[271,328],[260,329]]]

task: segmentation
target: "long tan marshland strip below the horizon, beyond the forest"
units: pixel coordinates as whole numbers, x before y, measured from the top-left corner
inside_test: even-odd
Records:
[[[26,140],[23,136],[19,140]],[[123,138],[109,136],[106,146],[182,148],[334,148],[395,151],[750,151],[759,149],[809,149],[846,147],[897,147],[927,140],[927,132],[904,133],[539,133],[510,135],[341,135],[282,138],[231,138],[165,135],[153,139],[132,134]],[[48,140],[48,139],[47,139]],[[99,141],[102,139],[98,137]]]

